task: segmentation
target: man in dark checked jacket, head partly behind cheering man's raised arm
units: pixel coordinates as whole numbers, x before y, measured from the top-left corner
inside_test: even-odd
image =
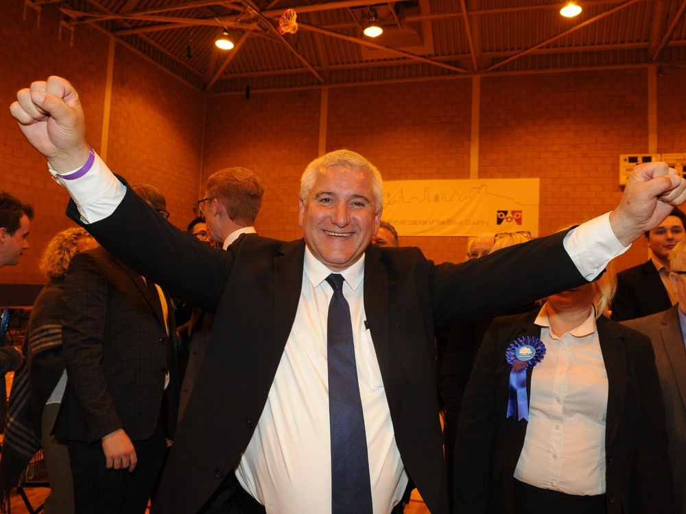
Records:
[[[161,193],[133,189],[162,220],[155,212],[167,212]],[[176,426],[168,297],[97,248],[74,256],[64,303],[68,383],[55,431],[69,441],[75,511],[145,513]]]

